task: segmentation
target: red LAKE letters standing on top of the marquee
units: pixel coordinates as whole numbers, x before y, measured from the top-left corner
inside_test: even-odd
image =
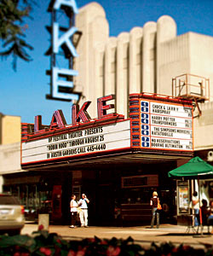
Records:
[[[114,104],[107,104],[108,101],[114,100],[115,96],[103,96],[97,99],[97,114],[98,119],[103,118],[111,118],[112,113],[107,113],[107,110],[114,108]],[[78,104],[72,105],[72,125],[77,125],[78,123],[87,123],[91,119],[89,113],[87,112],[87,108],[89,107],[91,102],[84,102],[82,108],[79,109]],[[118,115],[122,116],[122,115]],[[123,116],[122,116],[123,117]],[[56,110],[53,113],[53,117],[51,119],[51,123],[49,125],[49,129],[55,128],[65,128],[66,127],[66,119],[61,110]],[[42,125],[42,116],[37,115],[35,117],[34,123],[34,132],[43,131]]]

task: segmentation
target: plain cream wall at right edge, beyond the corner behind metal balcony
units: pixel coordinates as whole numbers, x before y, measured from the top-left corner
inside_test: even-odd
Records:
[[[199,103],[193,119],[194,150],[213,148],[213,38],[189,33],[191,73],[210,79],[210,102]]]

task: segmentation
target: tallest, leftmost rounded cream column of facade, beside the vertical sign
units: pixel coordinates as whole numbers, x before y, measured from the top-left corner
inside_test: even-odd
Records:
[[[76,15],[76,27],[82,32],[82,37],[77,47],[79,56],[75,60],[75,69],[78,69],[79,72],[75,79],[76,90],[80,89],[82,91],[79,104],[82,105],[83,102],[91,101],[89,114],[91,117],[96,117],[96,98],[98,96],[96,96],[95,87],[98,85],[95,85],[97,80],[95,76],[99,76],[100,73],[95,72],[97,68],[96,61],[99,59],[95,59],[95,50],[96,47],[99,47],[98,45],[106,44],[109,37],[109,26],[105,11],[101,5],[99,3],[89,3],[79,9],[79,14]],[[99,94],[100,90],[98,90]]]

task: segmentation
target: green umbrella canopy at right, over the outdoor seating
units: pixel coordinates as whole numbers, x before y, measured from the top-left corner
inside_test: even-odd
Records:
[[[177,167],[168,173],[169,177],[188,177],[188,178],[213,178],[213,166],[210,166],[199,156],[189,160],[187,164]],[[204,176],[204,177],[200,177]]]

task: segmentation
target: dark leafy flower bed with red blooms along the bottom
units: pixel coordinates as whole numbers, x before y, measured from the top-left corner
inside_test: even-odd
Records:
[[[126,240],[100,239],[65,240],[47,230],[33,232],[32,236],[0,236],[0,256],[210,256],[213,247],[194,248],[187,245],[175,246],[171,242],[149,247],[136,244],[129,237]]]

